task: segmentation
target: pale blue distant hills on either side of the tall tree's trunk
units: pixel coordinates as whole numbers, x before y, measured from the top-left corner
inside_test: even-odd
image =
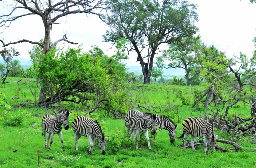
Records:
[[[128,72],[134,72],[137,75],[142,74],[141,66],[126,66],[128,68]],[[163,69],[163,77],[180,77],[185,75],[185,70],[182,68],[168,68],[168,69]]]

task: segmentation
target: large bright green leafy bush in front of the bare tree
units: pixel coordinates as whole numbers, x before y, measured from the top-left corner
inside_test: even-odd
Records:
[[[53,48],[36,68],[36,77],[42,76],[49,98],[38,101],[35,106],[67,101],[83,104],[88,113],[98,108],[114,115],[125,112],[126,68],[118,61],[96,46],[89,52],[83,52],[81,46],[66,51]]]

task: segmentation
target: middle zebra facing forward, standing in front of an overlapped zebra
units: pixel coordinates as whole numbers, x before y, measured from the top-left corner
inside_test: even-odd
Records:
[[[135,138],[135,134],[137,133],[136,149],[138,149],[139,133],[143,132],[143,134],[147,138],[149,150],[151,151],[148,129],[150,129],[152,135],[156,133],[156,118],[157,116],[155,114],[141,113],[138,110],[130,110],[127,112],[127,115],[125,118],[125,126],[127,127],[127,131],[129,132],[130,137],[133,131],[133,135],[132,135],[133,141]]]

